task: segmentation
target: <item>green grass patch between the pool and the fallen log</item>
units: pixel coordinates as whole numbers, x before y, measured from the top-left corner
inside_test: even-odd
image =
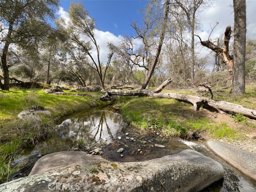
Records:
[[[241,136],[239,128],[214,122],[203,110],[195,112],[192,105],[174,99],[134,98],[122,107],[122,114],[132,126],[169,136],[190,138],[189,134],[194,132],[207,132],[216,138],[238,139]]]

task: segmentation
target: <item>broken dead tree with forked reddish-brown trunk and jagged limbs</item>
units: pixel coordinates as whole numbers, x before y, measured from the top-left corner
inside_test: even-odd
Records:
[[[230,53],[229,53],[229,41],[230,41],[231,33],[232,33],[231,26],[227,26],[225,33],[224,33],[224,48],[221,48],[221,47],[215,45],[214,43],[212,43],[209,40],[209,38],[206,41],[202,41],[200,36],[195,35],[200,39],[200,43],[202,46],[205,46],[205,47],[209,48],[210,50],[214,51],[225,62],[227,69],[228,69],[227,86],[232,85],[232,78],[233,78],[233,55],[230,55]]]

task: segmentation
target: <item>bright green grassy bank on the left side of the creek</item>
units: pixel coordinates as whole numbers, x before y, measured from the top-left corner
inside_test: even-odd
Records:
[[[48,109],[51,117],[39,115],[42,124],[24,122],[17,118],[21,111],[33,105]],[[11,89],[8,92],[0,90],[0,179],[15,171],[10,170],[9,165],[18,150],[51,135],[54,132],[54,122],[60,116],[99,105],[106,103],[98,97],[52,95],[46,94],[42,89]]]

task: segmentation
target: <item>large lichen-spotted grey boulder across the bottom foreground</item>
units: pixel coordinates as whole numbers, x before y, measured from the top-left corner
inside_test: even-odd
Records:
[[[40,158],[28,177],[0,185],[0,191],[196,192],[223,176],[218,162],[194,150],[126,163],[84,152],[58,152]]]

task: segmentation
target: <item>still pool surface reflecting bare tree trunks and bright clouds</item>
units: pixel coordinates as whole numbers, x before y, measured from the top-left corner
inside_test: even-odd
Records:
[[[70,150],[80,139],[88,145],[101,139],[111,141],[125,127],[121,114],[114,109],[75,113],[57,125],[54,137],[40,142],[34,150],[48,154]]]

